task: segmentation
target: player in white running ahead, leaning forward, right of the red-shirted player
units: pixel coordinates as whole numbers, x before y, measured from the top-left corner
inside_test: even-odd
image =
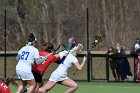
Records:
[[[65,93],[73,93],[78,85],[75,81],[67,77],[68,69],[74,64],[78,70],[81,70],[86,61],[86,57],[83,58],[83,62],[79,64],[76,55],[83,48],[81,44],[74,47],[70,53],[66,56],[64,61],[58,66],[58,68],[51,74],[49,81],[39,89],[39,93],[46,93],[52,89],[57,83],[64,86],[68,86],[69,89]],[[63,55],[63,54],[62,54]],[[60,53],[61,57],[61,53]]]

